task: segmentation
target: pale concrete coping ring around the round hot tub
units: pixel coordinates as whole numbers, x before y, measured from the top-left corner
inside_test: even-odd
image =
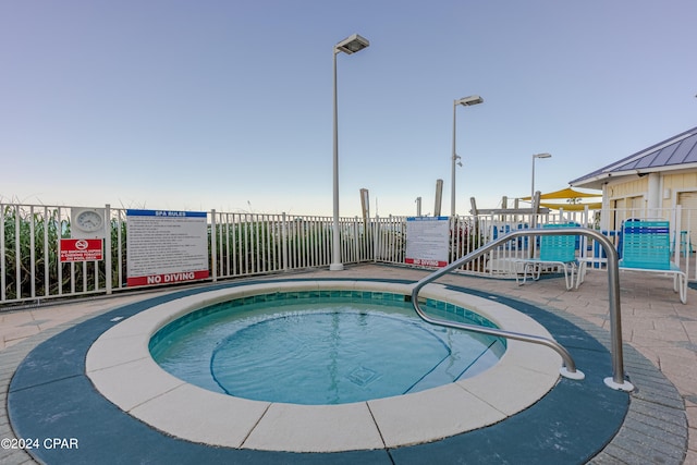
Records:
[[[509,340],[501,360],[473,378],[367,402],[297,405],[208,391],[168,374],[150,356],[148,344],[158,330],[203,307],[259,294],[330,289],[411,294],[406,284],[318,280],[181,297],[105,331],[87,353],[87,377],[119,408],[173,437],[215,446],[283,452],[344,452],[438,441],[505,420],[537,402],[559,380],[562,360],[558,354]],[[441,284],[428,285],[421,296],[474,310],[503,330],[551,339],[541,325],[498,302]],[[120,382],[123,379],[130,382]],[[514,393],[508,389],[513,379]],[[232,425],[230,418],[235,418]]]

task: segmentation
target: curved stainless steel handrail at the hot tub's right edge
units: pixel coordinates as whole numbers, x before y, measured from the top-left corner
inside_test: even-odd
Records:
[[[497,335],[506,339],[513,339],[524,342],[530,342],[534,344],[540,344],[548,346],[557,353],[559,353],[564,360],[564,366],[560,369],[562,376],[572,379],[583,379],[584,375],[576,369],[576,364],[571,354],[564,346],[554,341],[553,339],[537,336],[533,334],[523,334],[517,332],[504,331],[494,328],[486,328],[476,325],[466,325],[455,321],[443,320],[440,318],[428,316],[421,310],[418,305],[418,293],[429,282],[437,280],[443,274],[458,268],[480,256],[496,248],[497,246],[506,243],[515,237],[530,236],[530,235],[585,235],[594,238],[602,246],[606,256],[608,257],[608,292],[610,304],[610,353],[612,356],[612,377],[606,378],[604,383],[615,390],[633,391],[634,386],[624,379],[624,359],[622,353],[622,321],[620,316],[620,268],[617,250],[608,237],[599,233],[598,231],[587,228],[560,228],[560,229],[540,229],[540,230],[518,230],[512,231],[499,238],[482,245],[474,252],[458,258],[457,260],[449,264],[444,268],[440,268],[426,278],[420,279],[414,284],[412,289],[412,305],[416,314],[426,322],[437,326],[443,326],[449,328],[465,329],[468,331],[475,331],[484,334]],[[580,271],[579,271],[580,272]]]

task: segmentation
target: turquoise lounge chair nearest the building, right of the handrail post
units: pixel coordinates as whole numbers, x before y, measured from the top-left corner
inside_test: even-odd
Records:
[[[687,276],[671,261],[670,223],[668,221],[626,220],[622,225],[620,270],[673,276],[673,291],[687,303]]]

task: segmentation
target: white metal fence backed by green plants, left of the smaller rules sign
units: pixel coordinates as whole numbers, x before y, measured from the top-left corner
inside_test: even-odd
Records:
[[[78,207],[0,204],[0,305],[133,289],[126,285],[126,209],[105,208],[102,260],[61,262],[72,208]],[[372,228],[357,218],[340,220],[343,262],[374,259]],[[210,281],[331,261],[330,217],[210,211],[207,234]]]

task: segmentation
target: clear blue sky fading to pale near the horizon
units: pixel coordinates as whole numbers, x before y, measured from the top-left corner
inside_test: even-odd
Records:
[[[694,0],[0,0],[0,203],[332,215],[557,191],[697,126]]]

